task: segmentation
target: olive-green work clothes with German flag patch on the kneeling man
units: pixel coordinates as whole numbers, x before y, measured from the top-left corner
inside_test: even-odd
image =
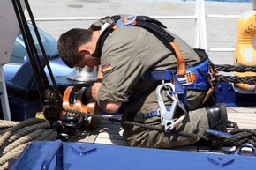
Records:
[[[90,29],[104,31],[104,27],[112,22],[113,20],[109,17],[102,18],[94,22]],[[200,62],[199,56],[186,42],[176,34],[171,33],[171,35],[175,37],[174,41],[184,56],[186,67]],[[132,112],[150,113],[159,108],[155,98],[155,88],[161,85],[162,81],[144,79],[143,75],[147,70],[176,70],[177,59],[153,33],[138,26],[117,28],[104,41],[100,57],[103,72],[103,85],[98,92],[100,102],[122,101],[126,103],[127,107],[122,119],[128,121],[132,121],[129,118]],[[187,108],[190,111],[183,122],[173,130],[198,135],[205,134],[205,129],[209,128],[206,109],[197,109],[205,93],[204,91],[187,92]],[[135,100],[131,101],[131,99]],[[172,100],[163,94],[162,100],[166,107],[171,106]],[[147,118],[143,123],[162,127],[160,116]],[[131,146],[171,148],[193,144],[199,140],[197,137],[170,135],[138,126],[126,124],[122,126],[124,138]]]

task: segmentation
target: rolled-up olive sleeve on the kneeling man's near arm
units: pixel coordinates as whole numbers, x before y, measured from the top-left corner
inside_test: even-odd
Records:
[[[110,56],[109,56],[110,57]],[[111,69],[103,72],[102,86],[98,92],[98,100],[107,102],[126,102],[127,93],[142,75],[143,64],[131,56],[115,55],[118,60],[110,64]],[[104,66],[102,66],[104,69]]]

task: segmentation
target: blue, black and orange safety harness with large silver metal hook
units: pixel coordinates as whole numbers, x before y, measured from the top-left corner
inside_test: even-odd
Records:
[[[160,106],[159,110],[152,113],[144,114],[145,118],[160,115],[162,120],[162,126],[165,131],[169,132],[175,128],[183,119],[186,114],[187,105],[186,101],[186,90],[200,90],[207,91],[206,99],[201,105],[209,98],[214,92],[213,77],[215,69],[210,64],[207,54],[202,49],[194,49],[195,52],[200,56],[201,62],[186,68],[184,63],[184,57],[181,54],[177,44],[174,42],[174,37],[168,33],[165,28],[166,26],[154,18],[147,16],[129,16],[121,18],[121,16],[112,16],[115,21],[115,25],[109,26],[100,37],[97,43],[98,56],[101,56],[103,43],[110,33],[122,26],[140,26],[147,31],[153,33],[167,48],[169,48],[177,58],[177,70],[154,70],[147,71],[143,78],[150,80],[162,80],[162,85],[159,85],[156,89],[156,99]],[[171,83],[165,83],[165,81]],[[166,94],[173,100],[171,107],[166,108],[162,102],[161,92],[162,89],[166,90]],[[180,102],[182,101],[182,102]],[[180,107],[184,114],[177,118],[174,122],[173,115],[176,108]]]

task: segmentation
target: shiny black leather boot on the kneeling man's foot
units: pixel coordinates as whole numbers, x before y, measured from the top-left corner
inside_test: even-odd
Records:
[[[228,115],[225,104],[207,107],[209,129],[227,132]]]

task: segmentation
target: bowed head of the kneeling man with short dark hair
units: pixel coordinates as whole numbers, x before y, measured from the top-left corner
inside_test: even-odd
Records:
[[[60,36],[57,49],[67,66],[71,68],[84,67],[85,65],[93,67],[92,61],[88,63],[88,60],[99,61],[99,58],[91,56],[96,46],[94,34],[92,30],[73,28]],[[99,62],[95,63],[95,65],[97,64]]]

